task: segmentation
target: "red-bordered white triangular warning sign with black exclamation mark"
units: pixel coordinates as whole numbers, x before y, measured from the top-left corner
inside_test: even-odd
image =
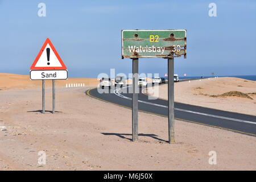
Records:
[[[36,56],[30,70],[64,70],[67,69],[59,54],[47,38],[42,49]]]

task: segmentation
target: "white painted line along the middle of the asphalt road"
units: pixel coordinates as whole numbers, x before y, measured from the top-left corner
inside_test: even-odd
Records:
[[[126,86],[125,88],[128,88],[130,86]],[[123,88],[123,89],[125,89]],[[131,100],[130,97],[126,97],[126,96],[123,96],[122,94],[120,94],[118,91],[121,90],[121,88],[118,88],[118,89],[115,89],[114,90],[114,94],[117,95],[118,97],[122,97],[122,98],[126,98],[127,100]],[[147,102],[147,101],[141,101],[141,100],[138,100],[138,102],[142,102],[144,104],[149,104],[149,105],[154,105],[154,106],[159,106],[159,107],[164,107],[164,108],[168,108],[168,106],[164,106],[164,105],[160,105],[160,104],[154,104],[152,102]],[[196,111],[191,111],[191,110],[186,110],[186,109],[179,109],[179,108],[174,108],[175,110],[179,110],[179,111],[183,111],[183,112],[187,112],[187,113],[193,113],[193,114],[199,114],[199,115],[206,115],[206,116],[209,116],[209,117],[214,117],[214,118],[221,118],[221,119],[228,119],[228,120],[231,120],[231,121],[238,121],[238,122],[243,122],[243,123],[250,123],[250,124],[254,124],[256,125],[256,122],[251,122],[251,121],[245,121],[245,120],[242,120],[242,119],[235,119],[235,118],[228,118],[228,117],[222,117],[220,115],[213,115],[213,114],[206,114],[206,113],[200,113],[200,112],[196,112]]]

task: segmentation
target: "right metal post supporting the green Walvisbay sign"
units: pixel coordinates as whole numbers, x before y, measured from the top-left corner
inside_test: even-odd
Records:
[[[174,58],[168,59],[168,134],[169,143],[175,143],[174,131]]]

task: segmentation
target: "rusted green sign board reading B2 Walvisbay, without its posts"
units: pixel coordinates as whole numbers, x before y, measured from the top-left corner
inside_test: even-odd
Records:
[[[186,58],[187,30],[122,30],[122,59]]]

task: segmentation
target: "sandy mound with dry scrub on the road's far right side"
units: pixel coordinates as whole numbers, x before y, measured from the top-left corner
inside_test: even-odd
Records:
[[[221,94],[237,91],[249,97],[221,96]],[[145,94],[168,100],[167,84],[160,85],[158,92],[144,89]],[[256,115],[256,81],[242,78],[220,77],[205,78],[184,82],[175,82],[174,100],[213,109]]]

